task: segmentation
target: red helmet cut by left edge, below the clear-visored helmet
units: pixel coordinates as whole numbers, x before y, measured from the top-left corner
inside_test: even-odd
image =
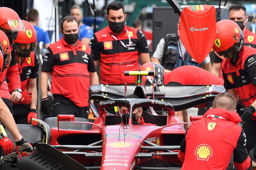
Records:
[[[8,67],[10,65],[11,60],[11,50],[10,50],[10,43],[3,31],[0,30],[0,50],[3,55],[3,61],[2,58],[0,58],[0,68],[1,71],[3,67]]]

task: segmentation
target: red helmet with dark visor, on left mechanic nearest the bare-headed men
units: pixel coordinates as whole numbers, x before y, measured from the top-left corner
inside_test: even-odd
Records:
[[[14,40],[14,47],[18,55],[22,57],[29,57],[31,51],[36,49],[36,30],[28,21],[22,20],[25,31],[19,31],[16,40]],[[20,47],[24,46],[23,49]]]

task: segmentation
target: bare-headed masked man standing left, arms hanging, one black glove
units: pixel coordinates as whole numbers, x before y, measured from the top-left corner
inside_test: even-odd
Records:
[[[99,84],[91,48],[78,40],[76,18],[63,18],[60,31],[63,37],[51,44],[44,56],[40,79],[41,108],[47,113],[50,107],[47,87],[48,77],[52,74],[53,116],[68,114],[88,118],[89,86]]]

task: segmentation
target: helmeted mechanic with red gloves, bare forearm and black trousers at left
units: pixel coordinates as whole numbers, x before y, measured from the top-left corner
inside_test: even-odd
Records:
[[[19,31],[14,40],[16,50],[15,59],[18,63],[21,81],[21,99],[20,102],[13,103],[13,118],[16,124],[30,124],[31,118],[37,119],[36,114],[36,77],[39,67],[39,58],[34,53],[36,49],[36,30],[28,22],[22,20],[25,31]],[[9,92],[12,92],[11,85],[7,79]],[[36,121],[31,122],[37,125]]]

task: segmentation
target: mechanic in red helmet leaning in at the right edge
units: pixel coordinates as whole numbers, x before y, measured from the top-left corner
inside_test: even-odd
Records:
[[[239,95],[245,106],[239,115],[247,137],[246,149],[250,152],[256,143],[256,49],[244,46],[243,32],[234,21],[221,20],[216,29],[218,33],[212,48],[224,59],[221,67],[225,89],[236,101]]]

